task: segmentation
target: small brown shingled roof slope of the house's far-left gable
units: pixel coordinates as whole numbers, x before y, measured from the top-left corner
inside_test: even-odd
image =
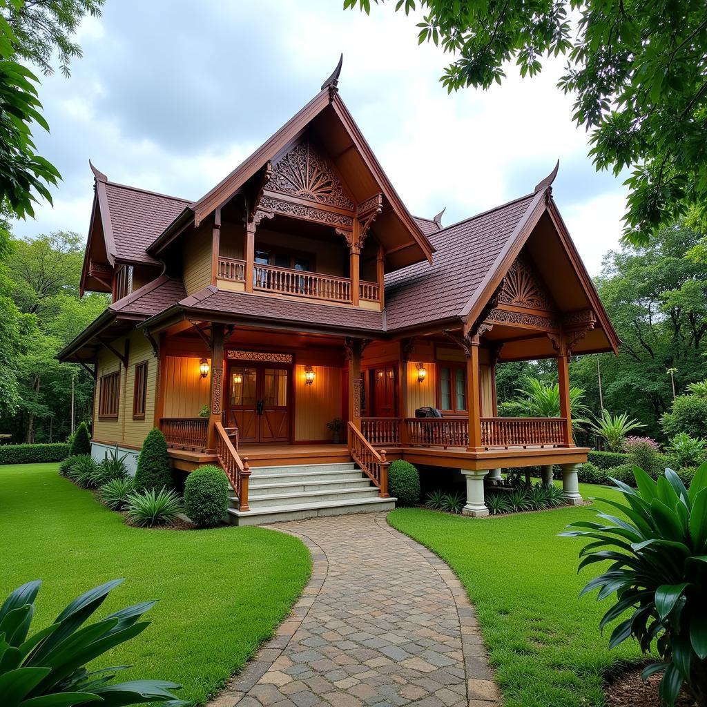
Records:
[[[113,255],[119,260],[158,264],[147,254],[148,245],[192,202],[114,182],[103,185],[115,243]]]

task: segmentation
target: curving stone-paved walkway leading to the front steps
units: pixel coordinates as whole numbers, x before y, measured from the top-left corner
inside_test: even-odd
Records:
[[[272,526],[314,569],[293,615],[211,707],[493,707],[500,703],[461,583],[385,513]]]

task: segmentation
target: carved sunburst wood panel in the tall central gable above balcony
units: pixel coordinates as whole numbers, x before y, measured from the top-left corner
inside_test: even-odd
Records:
[[[267,188],[347,211],[355,209],[337,175],[308,142],[294,146],[280,158],[274,165]]]

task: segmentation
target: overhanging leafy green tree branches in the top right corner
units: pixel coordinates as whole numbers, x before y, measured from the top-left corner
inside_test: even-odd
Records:
[[[559,88],[576,96],[597,170],[631,168],[624,238],[645,245],[688,212],[707,221],[703,0],[397,0],[395,9],[418,3],[419,42],[455,55],[440,79],[449,91],[501,83],[512,60],[533,76],[545,57],[567,57]],[[370,12],[370,0],[344,0],[355,6]]]

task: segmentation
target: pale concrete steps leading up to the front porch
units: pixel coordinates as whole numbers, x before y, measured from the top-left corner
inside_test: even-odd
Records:
[[[380,498],[378,489],[354,462],[250,467],[250,471],[250,510],[238,510],[238,499],[231,496],[228,520],[232,525],[395,508],[395,498]]]

